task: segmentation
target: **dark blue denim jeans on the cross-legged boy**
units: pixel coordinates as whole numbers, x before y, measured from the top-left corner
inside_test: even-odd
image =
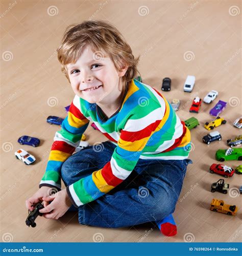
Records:
[[[61,177],[70,185],[91,175],[111,160],[114,148],[103,142],[103,150],[96,152],[88,146],[70,156],[62,165]],[[139,159],[130,176],[104,196],[75,208],[79,223],[99,227],[126,227],[159,221],[172,214],[182,188],[190,159]]]

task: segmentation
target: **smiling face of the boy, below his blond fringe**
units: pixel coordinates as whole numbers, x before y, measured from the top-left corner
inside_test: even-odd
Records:
[[[120,77],[125,75],[127,68],[118,72],[112,60],[103,53],[92,52],[89,47],[83,50],[76,63],[66,65],[70,84],[76,95],[89,103],[107,104],[112,96],[117,95]],[[86,89],[98,89],[87,91]]]

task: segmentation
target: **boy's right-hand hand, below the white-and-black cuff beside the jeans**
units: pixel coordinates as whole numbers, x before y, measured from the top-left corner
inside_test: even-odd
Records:
[[[67,195],[66,189],[63,189],[49,197],[43,197],[42,200],[44,201],[45,207],[40,209],[39,212],[43,214],[43,217],[46,219],[58,220],[65,214],[72,204]],[[47,205],[47,202],[50,201],[52,201],[52,203]]]

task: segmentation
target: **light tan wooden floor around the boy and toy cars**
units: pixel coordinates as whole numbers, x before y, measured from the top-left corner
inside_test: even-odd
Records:
[[[226,140],[239,135],[233,121],[241,116],[241,2],[230,1],[37,1],[0,2],[1,7],[1,238],[13,242],[238,242],[241,239],[242,185],[237,174],[226,179],[230,195],[210,192],[219,180],[209,173],[216,162],[215,152],[227,148]],[[153,223],[130,228],[107,229],[83,226],[74,212],[59,220],[37,218],[37,227],[25,224],[25,200],[38,189],[45,170],[53,137],[59,126],[46,117],[65,117],[64,106],[74,93],[60,71],[56,49],[67,25],[84,19],[112,22],[126,37],[135,56],[140,55],[139,71],[144,83],[161,91],[164,77],[172,78],[168,100],[179,98],[182,120],[195,116],[200,126],[191,131],[192,165],[188,166],[178,200],[176,237],[160,234]],[[187,75],[196,76],[192,93],[183,92]],[[196,93],[203,98],[210,90],[219,97],[210,105],[202,103],[199,114],[189,113]],[[227,120],[217,127],[222,141],[202,143],[203,127],[212,120],[209,110],[218,99],[228,102],[221,115]],[[88,127],[87,140],[105,141]],[[37,148],[17,143],[18,137],[38,137]],[[36,156],[36,164],[26,166],[14,157],[22,147]],[[239,161],[226,162],[233,168]],[[233,192],[233,193],[232,193]],[[209,210],[212,198],[239,207],[235,217]]]

